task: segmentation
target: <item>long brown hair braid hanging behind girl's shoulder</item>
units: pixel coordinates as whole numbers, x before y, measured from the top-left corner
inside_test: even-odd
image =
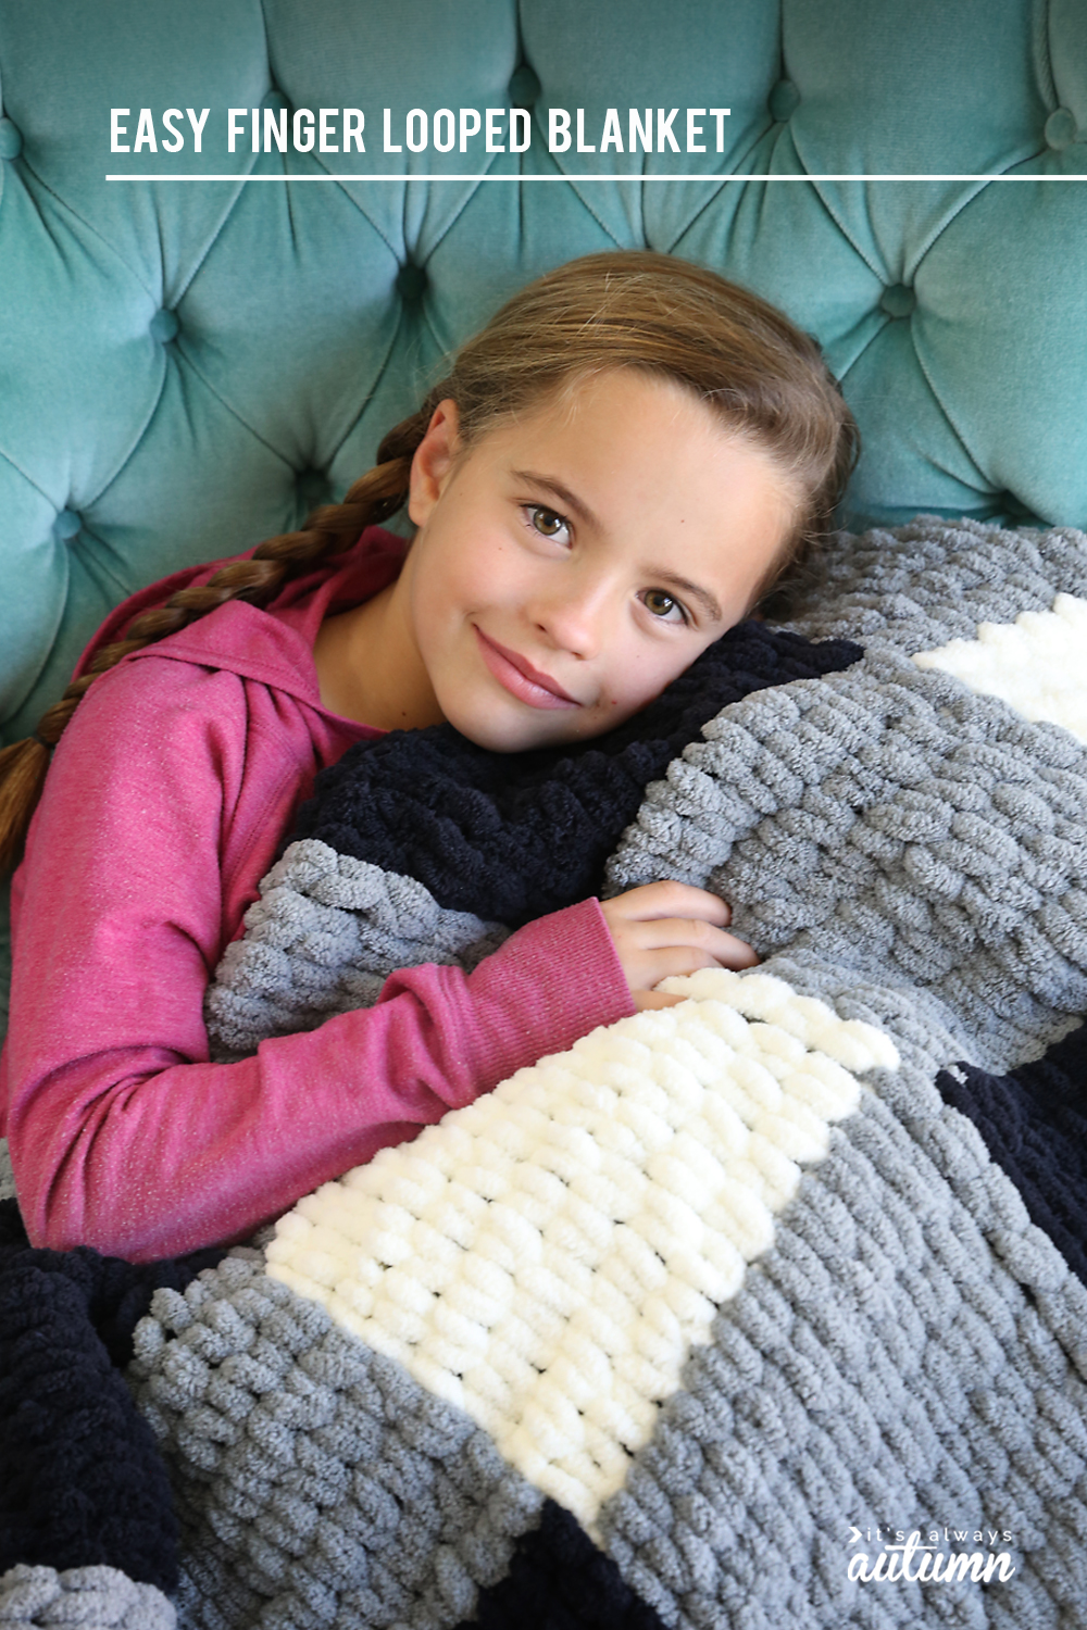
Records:
[[[64,735],[68,719],[98,675],[114,668],[134,650],[143,650],[166,634],[187,628],[228,600],[267,606],[292,577],[350,549],[360,531],[388,520],[404,504],[411,460],[427,422],[429,414],[414,414],[389,430],[378,452],[380,461],[349,487],[342,504],[323,504],[300,531],[267,538],[248,559],[220,566],[207,584],[179,588],[165,605],[140,611],[122,639],[95,652],[60,701],[41,716],[36,732],[0,751],[0,872],[18,857],[46,781],[51,748]]]

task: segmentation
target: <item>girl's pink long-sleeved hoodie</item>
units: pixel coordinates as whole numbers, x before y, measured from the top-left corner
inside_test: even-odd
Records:
[[[96,680],[65,730],[13,882],[0,1058],[0,1130],[36,1245],[140,1262],[243,1239],[634,1011],[588,900],[468,976],[394,973],[372,1009],[209,1063],[204,991],[282,833],[318,769],[380,734],[321,706],[316,631],[388,584],[403,549],[370,528],[272,611],[220,606]],[[90,649],[210,570],[134,597]]]

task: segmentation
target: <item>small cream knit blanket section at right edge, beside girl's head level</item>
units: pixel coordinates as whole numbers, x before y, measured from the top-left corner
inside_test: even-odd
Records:
[[[1045,719],[1087,742],[1087,600],[1058,595],[1051,611],[981,623],[976,639],[921,650],[919,668],[952,673],[976,696],[999,696],[1032,724]]]

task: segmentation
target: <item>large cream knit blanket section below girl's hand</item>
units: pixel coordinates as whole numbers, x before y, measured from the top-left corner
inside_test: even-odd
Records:
[[[800,1165],[895,1068],[880,1030],[766,975],[583,1037],[326,1183],[267,1271],[494,1438],[593,1527],[774,1239]]]

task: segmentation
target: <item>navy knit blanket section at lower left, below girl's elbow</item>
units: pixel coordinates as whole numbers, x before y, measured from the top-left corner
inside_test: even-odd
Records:
[[[20,1562],[108,1565],[174,1588],[166,1467],[114,1364],[152,1293],[184,1289],[220,1257],[137,1267],[86,1247],[34,1250],[16,1203],[0,1203],[0,1575]]]

